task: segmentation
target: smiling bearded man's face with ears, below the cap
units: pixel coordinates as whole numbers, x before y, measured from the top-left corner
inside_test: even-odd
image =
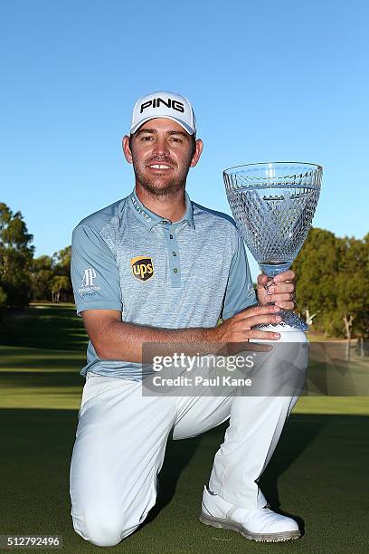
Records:
[[[172,196],[185,187],[190,167],[194,167],[203,149],[172,119],[150,119],[134,135],[123,139],[123,151],[132,163],[137,183],[156,196]]]

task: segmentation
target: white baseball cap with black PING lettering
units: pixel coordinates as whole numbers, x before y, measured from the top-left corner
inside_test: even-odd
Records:
[[[138,99],[132,113],[130,134],[155,118],[173,119],[190,135],[196,134],[196,119],[190,102],[181,94],[158,91]]]

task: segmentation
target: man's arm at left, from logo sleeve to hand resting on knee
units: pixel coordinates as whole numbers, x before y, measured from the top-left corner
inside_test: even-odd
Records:
[[[98,231],[79,224],[71,241],[71,281],[77,313],[99,358],[141,362],[143,343],[245,342],[249,339],[276,340],[270,331],[251,330],[260,323],[276,322],[274,306],[251,307],[223,320],[213,329],[159,329],[121,320],[118,267],[108,244]]]

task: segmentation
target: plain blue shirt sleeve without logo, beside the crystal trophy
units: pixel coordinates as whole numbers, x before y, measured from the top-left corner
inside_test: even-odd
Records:
[[[256,294],[251,280],[245,246],[241,239],[241,234],[238,234],[237,247],[232,256],[230,274],[224,296],[222,320],[232,318],[236,313],[255,304],[257,304]]]

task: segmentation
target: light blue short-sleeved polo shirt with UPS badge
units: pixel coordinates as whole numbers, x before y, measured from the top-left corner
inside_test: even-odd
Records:
[[[192,202],[175,223],[154,214],[134,190],[73,229],[71,282],[77,314],[119,310],[122,321],[156,328],[213,328],[256,304],[241,235],[229,215]],[[141,364],[99,358],[88,371],[142,378]]]

